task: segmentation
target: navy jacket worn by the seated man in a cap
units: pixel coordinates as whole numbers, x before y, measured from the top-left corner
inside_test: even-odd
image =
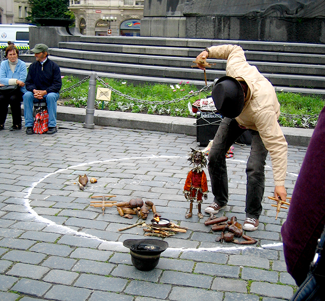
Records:
[[[29,66],[26,78],[26,89],[32,92],[36,90],[46,90],[47,93],[58,93],[62,86],[61,72],[58,64],[47,58],[42,64],[35,61]]]

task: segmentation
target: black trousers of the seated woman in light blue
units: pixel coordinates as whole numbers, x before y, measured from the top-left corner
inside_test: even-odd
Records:
[[[11,109],[13,125],[21,124],[20,102],[22,102],[22,94],[20,90],[12,95],[0,94],[0,124],[5,124],[6,122],[9,105]]]

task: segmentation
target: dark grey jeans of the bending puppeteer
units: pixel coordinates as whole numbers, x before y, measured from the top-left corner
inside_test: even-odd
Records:
[[[211,179],[214,202],[219,206],[228,203],[228,175],[225,154],[235,141],[247,129],[238,126],[235,119],[224,118],[213,139],[213,145],[209,152],[208,170]],[[268,154],[259,133],[250,130],[252,142],[250,155],[246,166],[246,215],[259,218],[262,213],[262,199],[265,187],[264,166]]]

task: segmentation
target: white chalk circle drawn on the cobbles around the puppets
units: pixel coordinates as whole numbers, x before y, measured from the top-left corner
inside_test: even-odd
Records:
[[[147,156],[147,157],[125,157],[125,158],[119,158],[119,159],[108,159],[108,160],[102,160],[102,161],[91,161],[91,162],[85,162],[85,163],[80,163],[77,165],[73,165],[73,166],[69,166],[68,168],[65,169],[59,169],[53,173],[47,174],[46,176],[44,176],[42,179],[40,179],[37,182],[34,182],[31,184],[31,187],[28,188],[26,195],[24,196],[24,206],[27,208],[28,212],[35,218],[35,220],[42,222],[42,223],[46,223],[48,226],[53,226],[55,228],[57,228],[59,230],[60,234],[63,235],[74,235],[74,236],[79,236],[79,237],[85,237],[85,238],[89,238],[89,239],[94,239],[97,241],[100,241],[102,243],[110,243],[112,245],[118,245],[118,246],[122,246],[122,242],[113,242],[113,241],[107,241],[104,239],[101,239],[99,237],[96,237],[94,235],[90,235],[88,233],[84,233],[84,232],[79,232],[76,231],[74,229],[71,229],[68,226],[63,226],[63,225],[58,225],[55,222],[42,217],[40,215],[38,215],[38,213],[32,209],[30,207],[30,200],[29,200],[29,196],[32,193],[32,190],[40,183],[42,183],[45,179],[47,179],[50,176],[53,176],[55,174],[58,174],[60,172],[63,171],[67,171],[67,170],[71,170],[71,169],[76,169],[80,166],[85,166],[85,165],[91,165],[91,164],[96,164],[96,163],[105,163],[105,162],[113,162],[113,161],[122,161],[122,160],[137,160],[137,159],[154,159],[154,158],[187,158],[188,156],[166,156],[166,155],[151,155],[151,156]],[[237,159],[233,159],[233,158],[229,158],[227,160],[231,160],[231,161],[237,161],[237,162],[241,162],[241,163],[246,163],[246,161],[244,160],[237,160]],[[266,165],[267,168],[271,168],[271,166]],[[291,174],[291,175],[295,175],[295,174]],[[298,177],[298,175],[297,175]],[[244,249],[248,249],[248,248],[254,248],[254,249],[265,249],[265,248],[276,248],[276,247],[281,247],[282,243],[273,243],[273,244],[266,244],[263,245],[261,247],[253,247],[253,246],[249,246],[249,245],[245,245],[245,246],[233,246],[233,247],[214,247],[214,248],[172,248],[170,247],[169,249],[173,249],[176,251],[195,251],[195,252],[201,252],[201,251],[210,251],[210,252],[215,252],[215,251],[232,251],[232,250],[244,250]]]

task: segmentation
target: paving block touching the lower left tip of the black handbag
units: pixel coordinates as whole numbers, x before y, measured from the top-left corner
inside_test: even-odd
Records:
[[[290,299],[293,296],[293,292],[294,290],[290,286],[267,282],[253,282],[250,286],[250,293],[274,298]]]

